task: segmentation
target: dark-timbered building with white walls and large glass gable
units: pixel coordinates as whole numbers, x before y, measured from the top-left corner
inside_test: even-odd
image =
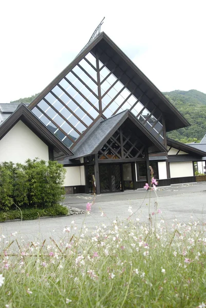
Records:
[[[58,160],[68,193],[141,188],[149,165],[160,185],[193,182],[206,157],[166,138],[190,124],[99,29],[28,106],[11,105],[0,106],[0,162]]]

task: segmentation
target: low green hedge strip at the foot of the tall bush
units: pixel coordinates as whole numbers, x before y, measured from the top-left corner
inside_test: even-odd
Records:
[[[11,209],[8,211],[0,212],[0,222],[17,218],[20,219],[22,218],[23,220],[31,220],[31,219],[38,219],[39,217],[44,217],[44,216],[60,216],[60,215],[68,215],[68,209],[60,204],[54,204],[52,207],[44,209],[40,208],[22,209],[22,215],[19,209],[16,210]]]

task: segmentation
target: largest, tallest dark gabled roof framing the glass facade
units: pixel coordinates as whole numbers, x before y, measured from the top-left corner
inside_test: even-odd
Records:
[[[80,52],[80,54],[30,103],[29,109],[32,109],[38,104],[88,52],[95,53],[97,50],[100,53],[99,60],[110,71],[113,71],[113,74],[119,78],[122,84],[125,85],[128,79],[133,82],[133,86],[130,86],[132,88],[129,88],[129,86],[127,88],[134,93],[135,97],[140,98],[142,93],[144,93],[141,103],[147,105],[146,108],[148,110],[150,108],[152,112],[155,104],[155,106],[164,113],[166,131],[190,125],[183,115],[166,99],[161,91],[104,32],[100,33],[86,48],[84,48],[82,52]],[[111,61],[108,61],[108,57]],[[123,76],[121,76],[120,70],[125,72]],[[137,85],[135,91],[134,84]],[[154,111],[153,114],[158,118],[159,115],[157,116],[156,112],[158,111]]]

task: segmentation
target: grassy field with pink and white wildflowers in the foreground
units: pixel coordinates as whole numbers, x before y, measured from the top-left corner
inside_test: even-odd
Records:
[[[1,307],[206,305],[205,225],[193,218],[168,229],[156,210],[143,225],[129,207],[95,232],[72,222],[58,243],[15,236],[0,236]]]

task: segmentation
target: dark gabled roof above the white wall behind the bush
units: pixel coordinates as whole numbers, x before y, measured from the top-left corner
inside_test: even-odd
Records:
[[[20,104],[17,109],[7,118],[0,127],[0,140],[18,122],[27,125],[45,144],[52,146],[55,158],[72,155],[69,150],[54,134],[24,105]]]

